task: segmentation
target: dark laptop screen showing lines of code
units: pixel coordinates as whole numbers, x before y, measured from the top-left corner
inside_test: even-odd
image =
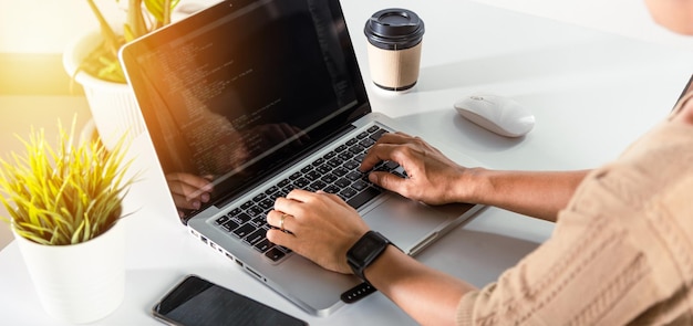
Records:
[[[338,0],[224,1],[121,60],[164,173],[213,181],[209,204],[370,112]]]

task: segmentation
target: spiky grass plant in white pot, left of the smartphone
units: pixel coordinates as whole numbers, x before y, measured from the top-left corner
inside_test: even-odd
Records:
[[[136,176],[124,138],[112,150],[76,141],[59,123],[58,146],[32,128],[24,153],[0,159],[0,202],[45,311],[63,320],[100,319],[123,301],[124,238],[117,221]]]

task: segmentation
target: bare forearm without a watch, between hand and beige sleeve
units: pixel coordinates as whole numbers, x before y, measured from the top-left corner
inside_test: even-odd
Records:
[[[556,221],[589,170],[496,171],[469,170],[466,185],[476,185],[472,202],[498,207],[520,214]],[[467,183],[473,182],[473,183]]]

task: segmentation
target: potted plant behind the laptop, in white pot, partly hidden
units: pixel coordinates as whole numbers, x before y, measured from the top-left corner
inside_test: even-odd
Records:
[[[128,0],[122,32],[111,27],[94,0],[86,2],[99,21],[99,31],[80,35],[69,44],[63,65],[84,88],[96,129],[110,149],[126,132],[132,138],[145,130],[118,62],[118,50],[126,42],[169,24],[179,0]]]

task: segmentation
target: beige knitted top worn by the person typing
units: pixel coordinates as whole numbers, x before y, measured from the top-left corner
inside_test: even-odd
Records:
[[[457,324],[693,325],[692,286],[693,126],[669,119],[592,171],[551,239],[467,293]]]

